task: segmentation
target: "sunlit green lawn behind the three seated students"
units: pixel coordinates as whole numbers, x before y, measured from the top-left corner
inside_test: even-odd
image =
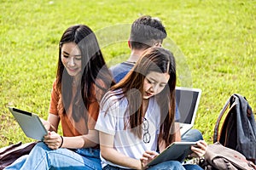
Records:
[[[58,42],[67,27],[85,24],[96,31],[110,66],[129,54],[129,25],[143,14],[159,17],[166,26],[166,47],[175,46],[177,55],[177,85],[202,89],[195,128],[208,143],[212,143],[218,113],[231,94],[246,96],[256,111],[254,0],[0,3],[0,147],[32,141],[22,133],[8,105],[47,118]]]

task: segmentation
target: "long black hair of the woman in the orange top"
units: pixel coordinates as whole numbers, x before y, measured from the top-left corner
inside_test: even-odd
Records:
[[[73,96],[73,77],[67,73],[67,70],[61,62],[61,48],[62,45],[67,42],[76,43],[82,56],[83,73],[81,74],[81,83],[78,86],[77,93],[74,94],[74,105],[71,104],[71,98]],[[66,31],[64,31],[59,45],[56,87],[62,97],[62,105],[64,106],[64,110],[62,112],[65,114],[65,110],[67,110],[70,105],[73,105],[73,120],[78,122],[81,117],[84,117],[84,114],[81,114],[84,113],[84,111],[81,111],[83,110],[82,106],[85,105],[86,111],[88,111],[88,106],[90,105],[90,99],[92,97],[91,89],[93,86],[96,85],[96,88],[100,88],[103,92],[106,92],[113,83],[112,77],[108,71],[105,60],[103,59],[102,51],[96,40],[96,36],[88,26],[70,26]],[[96,81],[97,78],[104,82],[105,87],[102,87],[102,84],[97,83],[99,82]]]

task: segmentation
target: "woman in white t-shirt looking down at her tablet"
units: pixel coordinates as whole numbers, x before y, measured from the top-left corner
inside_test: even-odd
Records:
[[[158,146],[161,152],[176,140],[175,86],[172,53],[148,48],[126,77],[104,96],[96,122],[103,169],[184,169],[179,161],[146,167],[159,155]],[[197,145],[191,150],[203,156],[207,144],[199,141]]]

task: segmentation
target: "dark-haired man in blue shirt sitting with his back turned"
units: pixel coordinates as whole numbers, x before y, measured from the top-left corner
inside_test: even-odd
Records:
[[[131,34],[128,41],[129,48],[131,48],[129,59],[110,67],[115,82],[119,82],[129,71],[131,71],[131,68],[136,64],[145,49],[150,47],[161,47],[166,36],[166,28],[162,25],[159,19],[145,15],[135,20],[131,25]],[[180,115],[178,110],[176,110],[175,124],[177,127],[179,127],[179,119]],[[201,132],[197,129],[190,129],[182,136],[180,132],[177,131],[176,138],[177,140],[186,142],[195,142],[203,139]]]

